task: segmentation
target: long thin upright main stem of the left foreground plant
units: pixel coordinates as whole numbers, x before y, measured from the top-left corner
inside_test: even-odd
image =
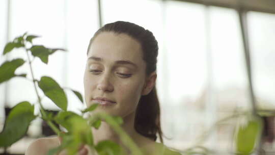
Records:
[[[41,104],[41,98],[40,98],[40,96],[38,94],[38,90],[37,90],[36,85],[35,85],[35,78],[34,78],[34,72],[33,72],[33,67],[32,67],[32,61],[30,59],[30,56],[29,56],[29,53],[28,53],[28,49],[26,49],[26,55],[28,56],[28,60],[29,60],[29,65],[30,65],[31,74],[32,74],[32,80],[33,80],[33,83],[34,83],[35,92],[36,92],[36,95],[37,95],[37,98],[38,98],[38,102],[39,102],[39,105],[40,105],[40,112],[41,112],[42,118],[47,119],[47,115],[46,115],[45,109],[44,109],[44,107]],[[59,128],[56,125],[54,125],[50,120],[47,120],[47,123],[51,127],[51,129],[57,135],[60,134],[60,130],[59,130]]]

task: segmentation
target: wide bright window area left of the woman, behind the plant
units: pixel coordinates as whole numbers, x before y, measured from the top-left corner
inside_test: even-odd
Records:
[[[28,31],[30,34],[42,36],[35,39],[34,44],[67,49],[66,52],[57,51],[49,56],[48,65],[36,58],[33,62],[35,78],[39,80],[41,76],[51,76],[61,87],[72,88],[84,94],[82,81],[87,47],[98,28],[97,2],[15,0],[12,1],[11,8],[11,39]],[[21,49],[9,55],[9,59],[18,57],[27,60],[25,51]],[[27,71],[28,78],[31,79],[29,70],[29,65],[24,64],[16,73]],[[16,77],[8,84],[9,107],[22,100],[37,101],[32,82]],[[76,111],[82,108],[83,105],[77,97],[69,90],[66,92],[68,109]],[[42,91],[39,94],[44,95]],[[47,97],[42,102],[45,108],[59,109]]]

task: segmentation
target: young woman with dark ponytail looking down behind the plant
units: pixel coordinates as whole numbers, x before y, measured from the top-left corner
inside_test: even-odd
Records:
[[[157,55],[158,44],[150,31],[124,21],[105,24],[88,46],[85,100],[87,107],[99,104],[93,113],[103,111],[122,117],[122,128],[145,154],[179,154],[155,142],[157,135],[162,142],[155,88]],[[93,133],[95,143],[112,140],[123,146],[104,121]],[[26,154],[43,154],[59,144],[57,137],[38,139]],[[66,154],[66,150],[59,154]],[[91,152],[84,146],[78,154]]]

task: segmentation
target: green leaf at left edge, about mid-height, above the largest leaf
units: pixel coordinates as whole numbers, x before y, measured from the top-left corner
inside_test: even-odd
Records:
[[[14,71],[25,63],[23,59],[6,61],[0,66],[0,84],[10,80],[14,76],[24,76],[25,74],[15,75]]]

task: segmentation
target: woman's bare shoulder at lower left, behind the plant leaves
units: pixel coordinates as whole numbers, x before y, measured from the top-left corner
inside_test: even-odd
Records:
[[[29,145],[25,155],[46,154],[48,150],[57,146],[59,146],[59,139],[57,136],[39,138]]]

